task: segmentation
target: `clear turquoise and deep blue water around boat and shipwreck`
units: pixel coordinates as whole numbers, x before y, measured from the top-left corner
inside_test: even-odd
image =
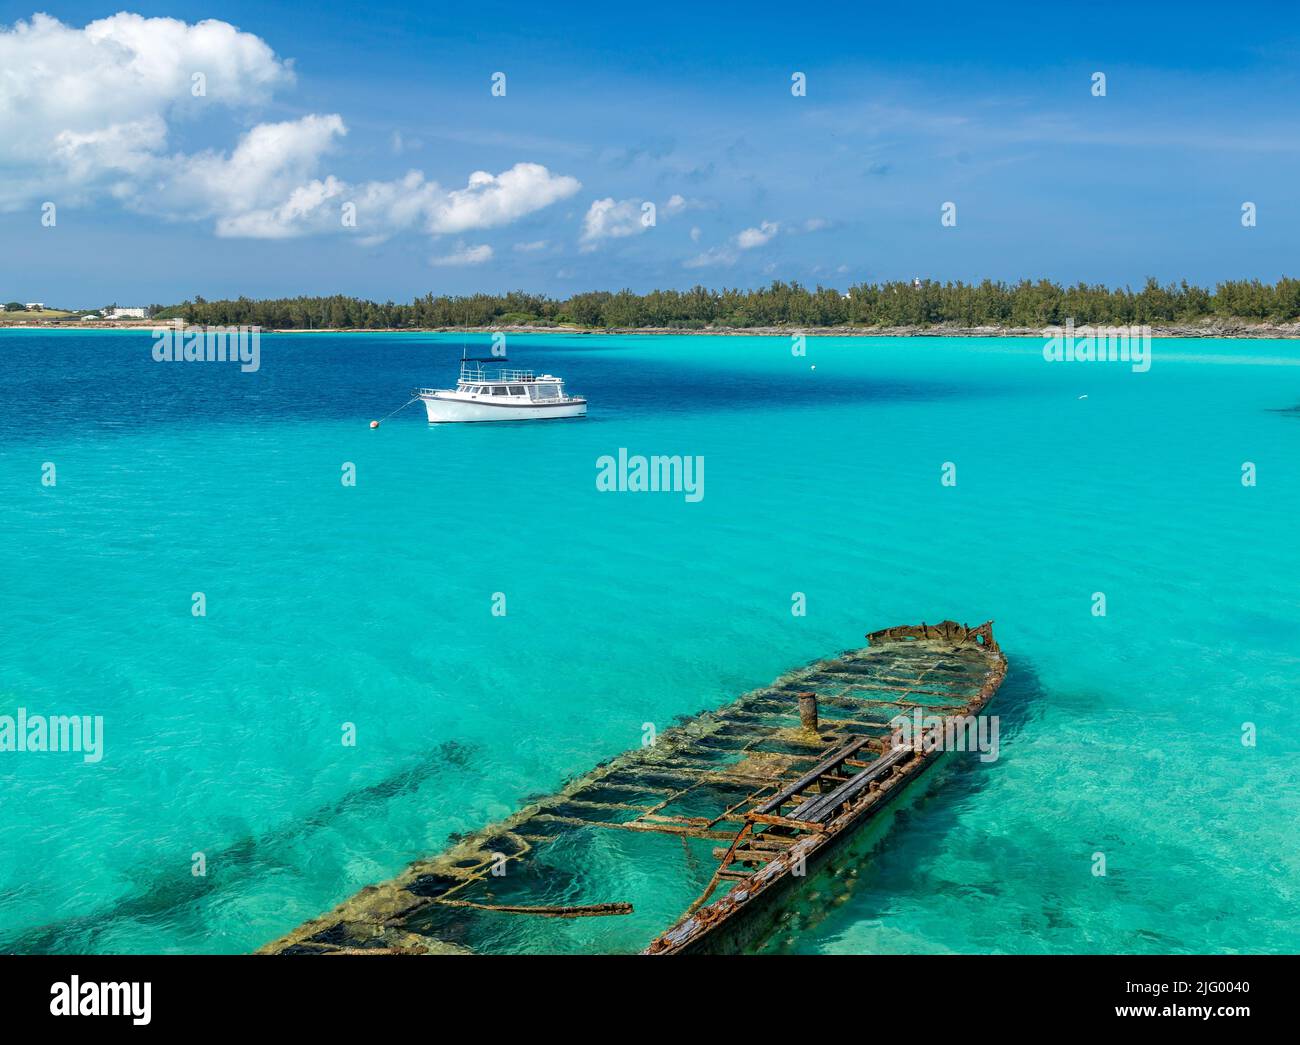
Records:
[[[586,421],[367,428],[459,344],[266,335],[240,374],[0,331],[0,715],[105,719],[98,764],[0,754],[0,949],[250,950],[642,723],[945,616],[997,620],[1001,759],[945,767],[774,948],[1300,948],[1294,342],[1160,341],[1134,374],[1036,341],[515,337]],[[598,493],[619,447],[703,455],[703,500]],[[662,924],[694,893],[612,849],[601,899],[640,873]],[[515,942],[644,942],[566,924]]]

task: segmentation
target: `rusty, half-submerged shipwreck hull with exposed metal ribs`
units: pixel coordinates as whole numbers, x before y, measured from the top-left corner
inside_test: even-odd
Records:
[[[636,950],[651,936],[647,954],[753,948],[800,885],[939,762],[942,745],[927,742],[935,724],[970,721],[1006,675],[992,621],[888,628],[867,641],[684,720],[655,745],[363,889],[261,953],[508,953],[519,937],[499,920],[537,918],[629,927],[612,945],[590,937],[595,951]],[[894,745],[890,723],[918,710],[927,716],[922,742]],[[659,932],[666,914],[628,946],[628,916],[642,897],[575,902],[563,884],[546,881],[556,873],[554,850],[580,834],[642,847],[662,840],[662,850],[637,849],[630,867],[649,862],[703,890],[671,928]],[[711,875],[690,859],[690,846],[715,846]]]

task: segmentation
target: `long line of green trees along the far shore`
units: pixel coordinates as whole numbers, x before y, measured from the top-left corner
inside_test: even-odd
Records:
[[[1187,281],[1161,285],[1148,279],[1141,290],[1048,279],[1004,283],[963,282],[859,283],[841,292],[774,282],[758,290],[630,290],[592,291],[569,298],[512,291],[447,296],[426,294],[410,304],[382,304],[341,294],[328,298],[278,298],[208,302],[195,298],[166,308],[155,318],[183,318],[217,326],[264,329],[402,329],[510,326],[533,324],[586,328],[753,326],[1028,326],[1065,324],[1119,325],[1196,322],[1205,318],[1300,320],[1300,279],[1277,283],[1228,281],[1214,290]]]

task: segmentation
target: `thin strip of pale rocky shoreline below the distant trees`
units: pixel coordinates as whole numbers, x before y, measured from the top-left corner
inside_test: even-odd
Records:
[[[5,322],[0,330],[157,330],[172,326],[174,320],[133,322],[77,322],[61,320],[31,320]],[[1083,324],[1076,324],[1075,330]],[[1096,328],[1095,328],[1096,329]],[[1044,328],[1028,326],[745,326],[680,329],[673,326],[541,326],[511,324],[494,326],[348,326],[348,328],[276,328],[264,334],[645,334],[653,337],[805,337],[819,338],[1035,338],[1046,337]],[[1300,322],[1251,324],[1244,321],[1204,325],[1152,325],[1153,338],[1210,338],[1225,341],[1300,339]]]

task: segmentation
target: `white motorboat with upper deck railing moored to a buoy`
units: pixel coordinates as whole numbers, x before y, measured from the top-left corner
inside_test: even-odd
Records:
[[[586,399],[568,395],[554,374],[534,374],[503,367],[485,369],[485,363],[506,359],[462,359],[455,389],[416,389],[429,424],[451,421],[543,421],[586,417]]]

